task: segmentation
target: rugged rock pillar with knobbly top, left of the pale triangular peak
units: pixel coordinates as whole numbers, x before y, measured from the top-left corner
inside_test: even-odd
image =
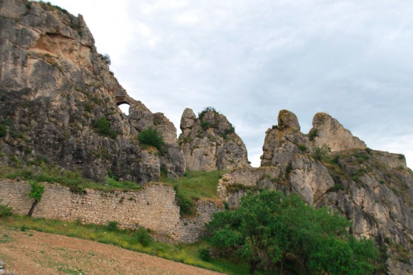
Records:
[[[334,186],[334,181],[326,167],[306,153],[309,140],[299,129],[294,113],[279,111],[278,125],[266,131],[261,166],[277,168],[275,181],[288,182],[291,191],[313,203]]]

